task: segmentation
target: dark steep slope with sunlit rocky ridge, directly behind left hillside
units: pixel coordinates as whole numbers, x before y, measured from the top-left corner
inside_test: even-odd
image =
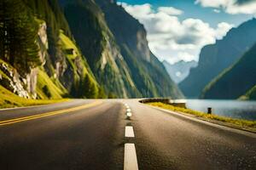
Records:
[[[96,3],[90,0],[67,3],[65,14],[74,38],[105,91],[120,98],[135,94],[125,62]]]

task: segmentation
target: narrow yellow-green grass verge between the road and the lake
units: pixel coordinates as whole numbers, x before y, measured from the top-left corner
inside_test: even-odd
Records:
[[[153,105],[156,107],[160,107],[166,110],[171,110],[171,111],[177,111],[180,113],[187,113],[193,116],[197,116],[197,117],[201,117],[204,120],[210,121],[218,121],[218,122],[224,122],[227,125],[230,126],[235,126],[235,127],[240,127],[243,129],[247,129],[253,132],[256,132],[256,121],[247,121],[247,120],[242,120],[242,119],[234,119],[234,118],[230,118],[230,117],[224,117],[224,116],[217,116],[214,114],[207,114],[201,111],[193,111],[190,109],[184,109],[181,107],[176,107],[173,105],[167,105],[167,104],[163,104],[160,102],[154,102],[154,103],[148,103],[148,105]]]

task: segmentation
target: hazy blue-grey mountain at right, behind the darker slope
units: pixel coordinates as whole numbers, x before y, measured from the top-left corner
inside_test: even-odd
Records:
[[[200,96],[202,90],[224,69],[233,65],[256,42],[256,20],[248,20],[215,44],[201,49],[198,66],[179,84],[183,94],[190,98]]]

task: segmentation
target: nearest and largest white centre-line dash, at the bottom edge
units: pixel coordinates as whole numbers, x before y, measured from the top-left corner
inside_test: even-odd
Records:
[[[125,144],[124,170],[138,170],[135,144]]]

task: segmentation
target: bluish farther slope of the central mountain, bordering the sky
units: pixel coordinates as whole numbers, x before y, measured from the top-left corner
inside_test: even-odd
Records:
[[[137,91],[146,97],[182,97],[164,66],[150,52],[143,25],[113,1],[96,0],[96,3],[105,14]]]

